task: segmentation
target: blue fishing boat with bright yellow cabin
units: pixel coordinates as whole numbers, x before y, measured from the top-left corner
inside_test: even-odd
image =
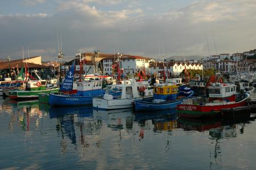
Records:
[[[135,100],[135,111],[158,111],[176,108],[184,99],[191,97],[194,92],[189,88],[186,92],[178,92],[176,82],[167,79],[165,84],[154,84],[154,97],[151,99]]]

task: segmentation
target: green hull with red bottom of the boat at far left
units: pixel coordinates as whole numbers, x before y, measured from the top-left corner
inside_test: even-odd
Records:
[[[51,91],[59,91],[59,88],[38,91],[10,90],[9,97],[10,99],[38,99],[40,93],[49,94]]]

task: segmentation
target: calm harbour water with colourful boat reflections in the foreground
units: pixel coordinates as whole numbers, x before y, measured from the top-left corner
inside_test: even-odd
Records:
[[[0,169],[255,169],[256,114],[225,120],[0,100]]]

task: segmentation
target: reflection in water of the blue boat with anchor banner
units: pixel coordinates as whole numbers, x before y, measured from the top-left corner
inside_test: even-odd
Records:
[[[71,140],[76,150],[85,149],[95,145],[99,147],[101,122],[93,120],[92,107],[49,107],[49,117],[56,119],[56,131],[61,137],[61,153],[66,154],[68,142]],[[86,139],[85,139],[86,137]]]

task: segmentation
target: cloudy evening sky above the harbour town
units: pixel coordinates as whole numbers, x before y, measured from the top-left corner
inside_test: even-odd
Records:
[[[256,48],[255,8],[256,0],[0,0],[0,58],[22,58],[23,47],[27,57],[29,46],[30,56],[55,60],[60,35],[67,60],[80,49],[150,58],[244,52]]]

